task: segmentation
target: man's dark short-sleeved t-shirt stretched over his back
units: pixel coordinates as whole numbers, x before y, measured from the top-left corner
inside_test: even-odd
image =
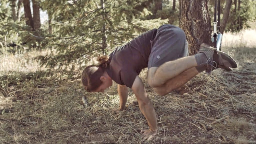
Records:
[[[151,40],[157,29],[149,30],[134,38],[127,44],[117,47],[110,56],[108,75],[120,85],[132,88],[133,82],[143,68],[147,67],[151,52]]]

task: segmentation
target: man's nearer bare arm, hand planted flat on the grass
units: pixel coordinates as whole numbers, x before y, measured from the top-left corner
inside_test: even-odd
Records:
[[[138,100],[138,104],[140,107],[141,112],[146,117],[149,130],[142,130],[143,139],[151,139],[154,135],[156,135],[157,131],[157,120],[156,120],[156,113],[155,109],[147,96],[146,89],[142,80],[136,76],[134,83],[132,85],[132,90]]]

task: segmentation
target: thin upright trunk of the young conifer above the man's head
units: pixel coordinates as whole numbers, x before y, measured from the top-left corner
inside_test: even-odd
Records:
[[[101,0],[100,2],[101,2],[101,8],[103,9],[102,19],[105,21],[106,19],[105,0]],[[105,22],[103,23],[101,32],[102,32],[102,53],[105,55],[105,49],[108,47]]]

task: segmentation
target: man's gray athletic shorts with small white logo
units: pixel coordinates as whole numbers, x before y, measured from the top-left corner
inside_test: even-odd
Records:
[[[188,56],[188,42],[184,31],[173,25],[162,25],[151,40],[148,68],[159,67],[167,61]]]

